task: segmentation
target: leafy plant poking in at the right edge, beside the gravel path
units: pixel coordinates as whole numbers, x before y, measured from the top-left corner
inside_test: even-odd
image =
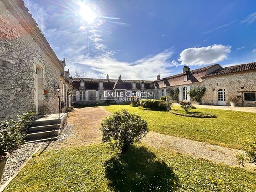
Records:
[[[242,166],[244,166],[245,162],[253,163],[256,165],[256,138],[253,142],[248,144],[245,149],[245,154],[238,154],[236,158]]]

